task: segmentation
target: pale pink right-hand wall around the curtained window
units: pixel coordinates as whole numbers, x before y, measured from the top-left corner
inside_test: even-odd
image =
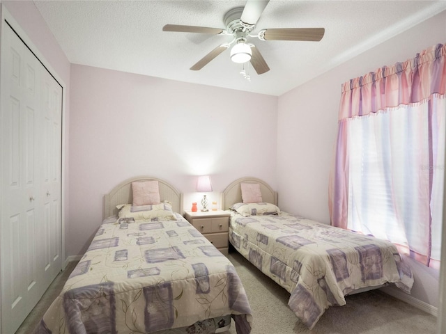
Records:
[[[446,11],[279,97],[277,191],[282,209],[330,223],[328,175],[341,84],[446,42]],[[409,261],[410,259],[408,259]],[[438,306],[438,271],[411,263],[415,298]]]

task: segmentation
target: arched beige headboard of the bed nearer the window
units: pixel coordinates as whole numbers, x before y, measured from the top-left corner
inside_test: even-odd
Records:
[[[231,205],[242,202],[242,190],[240,183],[259,183],[260,191],[262,193],[263,202],[272,203],[277,205],[277,193],[272,190],[270,185],[263,180],[256,177],[241,177],[235,180],[229,186],[226,186],[222,193],[222,209],[227,210]]]

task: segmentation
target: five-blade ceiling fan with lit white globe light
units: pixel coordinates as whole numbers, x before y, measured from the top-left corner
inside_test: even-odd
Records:
[[[231,49],[231,60],[235,63],[246,63],[250,61],[257,74],[263,74],[270,70],[265,59],[255,45],[248,43],[247,38],[257,37],[260,40],[302,40],[316,41],[323,38],[323,28],[284,28],[263,29],[256,35],[251,35],[254,26],[259,20],[269,0],[247,0],[245,7],[237,7],[229,10],[224,15],[226,29],[208,28],[206,26],[183,26],[178,24],[166,24],[162,31],[174,31],[183,33],[208,33],[213,35],[231,35],[233,40],[229,43],[219,45],[206,56],[201,58],[190,70],[201,70],[215,57],[236,43]]]

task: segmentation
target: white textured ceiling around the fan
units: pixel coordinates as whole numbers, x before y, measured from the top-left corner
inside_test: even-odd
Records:
[[[249,66],[247,81],[229,49],[189,70],[231,36],[162,31],[164,24],[224,29],[224,14],[246,1],[34,3],[71,63],[277,96],[446,9],[445,1],[271,0],[253,33],[323,27],[325,35],[320,42],[249,38],[270,71],[258,75]]]

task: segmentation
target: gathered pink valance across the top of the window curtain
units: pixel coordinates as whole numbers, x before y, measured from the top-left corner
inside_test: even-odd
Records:
[[[404,63],[346,81],[342,85],[339,120],[417,103],[445,91],[446,45],[438,44]]]

